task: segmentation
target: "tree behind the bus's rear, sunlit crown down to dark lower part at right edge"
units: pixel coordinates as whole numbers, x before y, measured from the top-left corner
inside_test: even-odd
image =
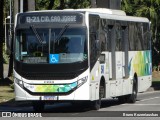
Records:
[[[153,65],[157,65],[160,59],[160,0],[123,0],[122,10],[128,15],[147,17],[151,21],[152,32],[152,58]],[[155,59],[156,58],[156,59]]]

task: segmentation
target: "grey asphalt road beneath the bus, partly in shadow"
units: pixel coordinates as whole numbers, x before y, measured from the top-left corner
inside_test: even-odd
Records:
[[[33,113],[32,106],[24,105],[13,106],[0,106],[0,112],[18,112],[18,113]],[[1,113],[0,113],[1,114]],[[120,104],[117,99],[103,100],[102,108],[98,111],[91,110],[83,103],[73,105],[71,103],[55,103],[53,105],[46,105],[45,111],[41,113],[43,117],[63,117],[63,120],[75,119],[75,117],[89,117],[99,119],[102,117],[110,117],[110,119],[118,118],[118,120],[124,119],[124,117],[146,117],[146,115],[155,116],[155,119],[160,117],[160,91],[152,91],[138,94],[137,102],[135,104]],[[0,115],[1,116],[1,115]],[[88,120],[87,119],[87,120]],[[40,120],[40,119],[38,119]],[[77,120],[77,119],[76,119]]]

